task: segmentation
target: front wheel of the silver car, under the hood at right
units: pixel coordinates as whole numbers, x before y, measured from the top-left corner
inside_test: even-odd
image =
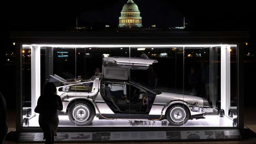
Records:
[[[166,118],[171,125],[179,126],[187,123],[189,116],[189,109],[183,105],[175,104],[168,108]]]

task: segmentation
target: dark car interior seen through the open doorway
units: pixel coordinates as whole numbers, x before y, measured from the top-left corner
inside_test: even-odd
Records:
[[[102,83],[101,95],[106,104],[114,111],[114,113],[149,113],[154,102],[154,94],[128,83],[126,86],[127,101],[125,96],[121,96],[121,98],[119,96],[113,96],[109,87],[110,84],[114,83]]]

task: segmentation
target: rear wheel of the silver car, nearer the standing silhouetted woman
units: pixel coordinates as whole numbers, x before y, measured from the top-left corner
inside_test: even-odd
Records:
[[[89,125],[95,116],[95,109],[87,102],[76,102],[69,107],[68,117],[77,125]]]

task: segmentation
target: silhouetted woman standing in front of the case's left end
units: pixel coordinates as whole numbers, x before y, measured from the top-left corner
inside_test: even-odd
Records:
[[[54,136],[57,136],[59,124],[58,110],[63,109],[62,100],[56,93],[54,83],[46,83],[43,95],[38,98],[35,108],[35,112],[40,114],[38,122],[44,132],[45,144],[54,143]]]

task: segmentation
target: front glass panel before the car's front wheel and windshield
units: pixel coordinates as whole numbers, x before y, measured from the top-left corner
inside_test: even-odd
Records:
[[[131,106],[133,111],[136,110],[131,114],[142,113],[148,115],[142,121],[145,121],[145,119],[155,121],[155,123],[149,123],[148,125],[140,123],[139,126],[166,127],[183,125],[181,119],[185,115],[178,115],[178,118],[176,115],[175,117],[179,110],[184,109],[183,104],[171,104],[175,100],[177,102],[184,100],[183,47],[131,48],[131,61],[136,60],[141,63],[142,60],[147,60],[147,57],[149,58],[148,65],[134,66],[131,69],[130,83],[139,88],[139,90],[135,89],[130,92],[133,94],[131,96],[133,98],[131,104],[141,104],[140,109],[135,109],[135,106]],[[150,60],[155,61],[150,63]],[[183,111],[179,112],[182,113]],[[166,121],[169,122],[166,123]]]

